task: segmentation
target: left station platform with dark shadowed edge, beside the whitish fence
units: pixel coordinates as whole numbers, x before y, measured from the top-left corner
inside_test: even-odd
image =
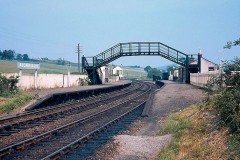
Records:
[[[113,83],[89,86],[77,86],[66,88],[53,88],[27,91],[28,94],[35,96],[36,101],[25,108],[25,110],[39,109],[46,106],[58,105],[73,100],[80,100],[92,95],[108,93],[129,86],[132,81],[121,80]]]

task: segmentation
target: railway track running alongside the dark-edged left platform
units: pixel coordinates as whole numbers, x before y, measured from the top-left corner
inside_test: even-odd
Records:
[[[137,89],[141,88],[141,86],[142,85],[139,83],[133,83],[130,87],[120,91],[2,118],[0,119],[0,137],[9,136],[10,134],[17,133],[23,129],[31,128],[46,122],[55,121],[59,118],[77,114],[94,108],[97,105],[100,106],[106,104],[125,96],[125,94],[135,92]]]

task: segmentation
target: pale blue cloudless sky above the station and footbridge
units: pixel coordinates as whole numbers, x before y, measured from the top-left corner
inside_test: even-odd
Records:
[[[0,50],[31,58],[77,62],[76,46],[94,56],[121,42],[161,42],[219,63],[240,55],[222,50],[240,38],[240,0],[0,0]],[[161,57],[123,57],[113,62],[152,67]]]

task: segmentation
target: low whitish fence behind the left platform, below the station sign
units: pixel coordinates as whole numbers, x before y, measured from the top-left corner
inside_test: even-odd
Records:
[[[18,76],[17,73],[3,74],[6,77]],[[87,80],[87,75],[64,75],[64,74],[38,74],[22,75],[19,77],[17,86],[22,90],[47,89],[79,86],[83,80]]]

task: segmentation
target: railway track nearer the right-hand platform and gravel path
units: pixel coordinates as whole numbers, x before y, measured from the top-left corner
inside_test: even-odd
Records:
[[[134,89],[125,89],[121,91],[122,94],[116,92],[116,94],[110,94],[110,97],[104,95],[101,97],[104,99],[103,101],[99,100],[99,98],[96,98],[97,100],[92,98],[93,103],[90,103],[89,99],[88,101],[82,101],[82,103],[86,102],[88,104],[84,106],[94,107],[86,107],[80,113],[68,114],[66,117],[70,119],[69,121],[60,123],[58,122],[60,121],[59,118],[53,119],[56,123],[59,123],[57,128],[46,127],[47,129],[42,133],[25,137],[23,140],[2,147],[0,149],[0,158],[58,159],[70,152],[71,148],[82,146],[89,139],[96,137],[116,121],[142,106],[153,90],[152,87],[155,87],[147,83],[134,83]],[[76,107],[74,110],[76,110]],[[72,118],[73,115],[78,116]],[[48,121],[40,122],[47,124]],[[8,136],[1,137],[1,139],[6,137]]]

